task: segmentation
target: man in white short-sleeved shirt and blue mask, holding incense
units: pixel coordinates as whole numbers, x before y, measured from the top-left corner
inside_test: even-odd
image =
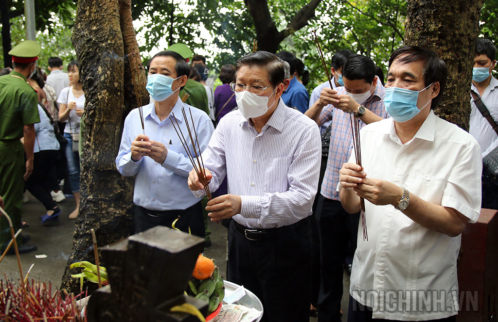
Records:
[[[353,153],[340,170],[343,207],[358,212],[365,198],[368,233],[353,261],[349,321],[456,320],[460,234],[479,218],[482,163],[476,140],[432,111],[446,79],[434,52],[394,51],[391,119],[361,130],[363,169]]]

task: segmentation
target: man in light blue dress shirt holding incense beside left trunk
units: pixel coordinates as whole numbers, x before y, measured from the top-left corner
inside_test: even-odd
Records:
[[[156,54],[149,62],[147,81],[147,90],[154,102],[142,107],[145,135],[138,108],[124,121],[116,167],[124,176],[136,174],[133,202],[137,233],[158,225],[171,227],[180,216],[176,228],[188,232],[190,227],[192,234],[204,237],[201,198],[194,197],[186,184],[192,163],[173,127],[180,128],[192,155],[195,155],[194,145],[188,135],[187,122],[194,141],[195,128],[201,151],[207,147],[214,131],[204,111],[179,99],[178,92],[189,73],[190,66],[179,54],[172,51]],[[182,108],[187,119],[182,115]]]

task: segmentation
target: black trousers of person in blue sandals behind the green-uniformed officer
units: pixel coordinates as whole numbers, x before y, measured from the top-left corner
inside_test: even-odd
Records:
[[[52,210],[57,204],[52,200],[50,191],[57,187],[55,162],[59,151],[44,150],[34,154],[33,173],[24,183],[24,187],[38,199],[46,210]]]

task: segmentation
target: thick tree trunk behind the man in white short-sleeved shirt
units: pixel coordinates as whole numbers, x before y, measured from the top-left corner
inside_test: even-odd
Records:
[[[469,130],[472,67],[484,0],[409,0],[405,44],[434,50],[448,66],[439,117]]]

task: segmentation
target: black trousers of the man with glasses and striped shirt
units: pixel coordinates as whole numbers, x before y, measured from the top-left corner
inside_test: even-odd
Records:
[[[230,281],[263,303],[262,322],[309,322],[310,227],[308,219],[251,241],[230,223]]]

